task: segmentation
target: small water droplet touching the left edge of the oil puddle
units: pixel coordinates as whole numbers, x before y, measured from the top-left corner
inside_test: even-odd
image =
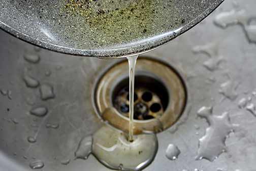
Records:
[[[92,150],[92,137],[86,136],[81,139],[77,151],[75,152],[76,159],[84,159],[86,160],[90,155]]]

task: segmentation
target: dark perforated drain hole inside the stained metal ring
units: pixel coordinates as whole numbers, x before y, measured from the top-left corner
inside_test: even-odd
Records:
[[[114,107],[125,117],[129,117],[129,78],[121,80],[113,90]],[[135,76],[134,119],[149,120],[160,118],[169,103],[169,95],[164,83],[148,75]]]

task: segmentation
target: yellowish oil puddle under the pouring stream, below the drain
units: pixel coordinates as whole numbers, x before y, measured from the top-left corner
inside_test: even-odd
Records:
[[[157,152],[155,134],[140,134],[130,142],[122,132],[104,126],[93,134],[92,154],[105,166],[113,169],[142,170]]]

